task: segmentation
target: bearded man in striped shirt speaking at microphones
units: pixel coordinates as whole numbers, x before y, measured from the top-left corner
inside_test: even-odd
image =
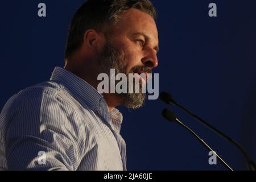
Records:
[[[97,91],[101,73],[151,73],[158,31],[148,0],[89,0],[72,19],[65,67],[20,91],[0,115],[0,167],[29,170],[126,170],[122,114],[143,93]],[[140,79],[142,84],[143,80]],[[146,80],[144,80],[146,81]]]

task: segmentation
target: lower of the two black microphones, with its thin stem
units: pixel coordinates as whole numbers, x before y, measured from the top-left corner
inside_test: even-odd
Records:
[[[198,140],[199,142],[201,142],[209,151],[212,151],[214,153],[214,155],[217,156],[218,159],[220,159],[221,163],[224,164],[224,166],[226,168],[228,168],[229,171],[233,171],[233,169],[223,160],[221,159],[221,157],[216,154],[216,152],[214,152],[214,150],[212,150],[212,148],[210,148],[210,146],[204,142],[203,139],[201,139],[199,137],[199,135],[197,135],[192,129],[190,129],[187,125],[185,125],[183,122],[181,122],[179,119],[177,119],[176,117],[176,114],[173,113],[172,111],[168,110],[168,109],[164,109],[162,111],[162,115],[164,118],[166,118],[168,121],[170,122],[176,122],[178,123],[179,125],[183,126],[185,129],[187,129],[192,135],[194,135]]]

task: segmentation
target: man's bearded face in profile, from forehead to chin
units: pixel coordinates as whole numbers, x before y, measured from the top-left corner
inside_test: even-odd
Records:
[[[129,73],[152,73],[152,68],[158,66],[158,31],[150,15],[135,9],[127,11],[112,29],[109,39],[100,58],[106,72],[113,68],[128,78]],[[146,80],[141,85],[142,82]],[[141,107],[146,99],[143,93],[116,96],[122,105],[133,109]]]

